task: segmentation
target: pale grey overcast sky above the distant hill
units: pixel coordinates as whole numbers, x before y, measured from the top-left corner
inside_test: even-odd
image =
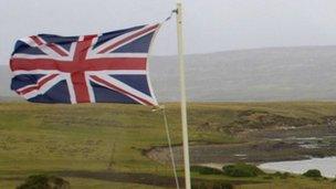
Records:
[[[336,44],[335,0],[183,0],[187,53]],[[14,41],[38,33],[106,32],[160,22],[175,0],[0,0],[0,64]],[[175,18],[154,55],[176,54]]]

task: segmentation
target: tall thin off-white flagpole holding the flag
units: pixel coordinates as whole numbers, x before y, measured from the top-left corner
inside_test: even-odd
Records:
[[[185,41],[182,31],[182,3],[177,0],[177,38],[178,38],[178,60],[180,65],[180,90],[181,90],[181,122],[183,137],[183,159],[185,159],[185,179],[186,189],[191,189],[190,162],[189,162],[189,140],[188,140],[188,122],[187,122],[187,95],[186,95],[186,76],[185,76]]]

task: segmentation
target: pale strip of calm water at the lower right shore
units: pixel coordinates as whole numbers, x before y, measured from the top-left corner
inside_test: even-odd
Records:
[[[303,174],[308,169],[318,169],[324,177],[336,177],[336,157],[312,158],[307,160],[266,162],[259,166],[264,170]]]

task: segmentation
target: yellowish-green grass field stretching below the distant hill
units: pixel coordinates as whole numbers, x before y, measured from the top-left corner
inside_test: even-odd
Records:
[[[175,145],[181,144],[179,106],[166,104]],[[250,114],[253,112],[253,114]],[[249,114],[246,114],[249,113]],[[166,146],[160,112],[136,105],[0,104],[0,188],[14,188],[29,175],[64,176],[72,188],[160,188],[157,179],[171,177],[170,165],[144,155],[153,146]],[[260,117],[266,118],[266,122]],[[190,104],[191,144],[242,143],[235,129],[271,127],[272,123],[325,124],[336,117],[336,103],[212,103]],[[76,172],[91,172],[85,178]],[[103,175],[127,175],[128,178]],[[96,174],[96,175],[95,175]],[[179,168],[179,175],[183,172]],[[90,178],[93,176],[92,178]],[[141,181],[137,177],[148,178]],[[154,177],[156,176],[156,177]],[[149,185],[150,178],[154,185]],[[336,188],[330,180],[301,177],[282,179],[233,179],[219,176],[193,178],[235,180],[239,188]],[[256,183],[255,183],[256,181]],[[144,185],[146,183],[146,185]],[[167,188],[168,185],[161,186]]]

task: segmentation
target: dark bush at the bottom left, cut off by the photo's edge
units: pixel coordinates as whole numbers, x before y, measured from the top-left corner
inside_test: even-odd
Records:
[[[70,185],[62,178],[35,175],[25,179],[25,182],[17,187],[17,189],[69,189]]]

